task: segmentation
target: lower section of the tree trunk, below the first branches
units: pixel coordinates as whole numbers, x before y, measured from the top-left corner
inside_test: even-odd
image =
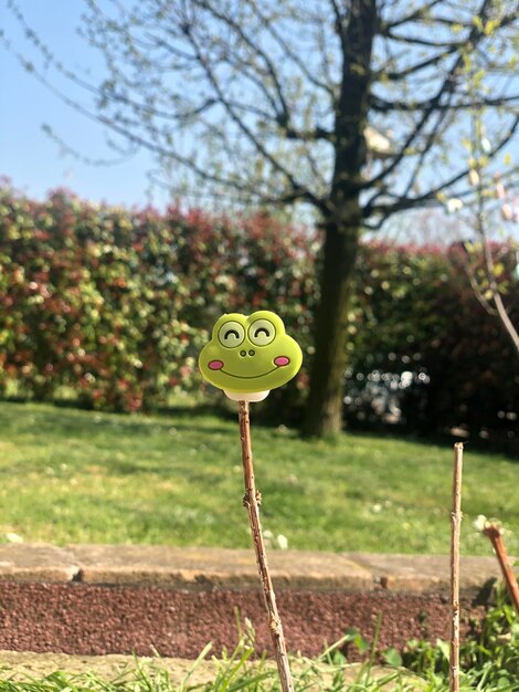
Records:
[[[348,311],[358,243],[358,213],[349,221],[327,224],[321,300],[315,327],[316,353],[304,428],[307,437],[337,434],[342,427]]]

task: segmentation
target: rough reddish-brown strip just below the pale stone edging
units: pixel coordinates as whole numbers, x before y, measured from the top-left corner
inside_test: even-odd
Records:
[[[434,594],[279,591],[277,601],[287,648],[304,656],[320,653],[350,627],[371,639],[379,614],[382,649],[448,635],[448,606]],[[463,606],[467,615],[483,615],[480,607]],[[252,622],[257,648],[269,650],[264,604],[254,591],[3,583],[0,649],[189,659],[211,641],[219,654],[237,641],[236,614]],[[352,660],[356,654],[348,652]]]

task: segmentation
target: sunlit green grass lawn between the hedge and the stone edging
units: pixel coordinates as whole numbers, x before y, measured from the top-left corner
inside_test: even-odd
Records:
[[[254,413],[254,411],[253,411]],[[452,449],[252,426],[264,528],[292,548],[447,553]],[[117,416],[0,402],[0,541],[250,547],[237,421],[189,402]],[[519,464],[465,452],[463,551],[498,517],[519,554]]]

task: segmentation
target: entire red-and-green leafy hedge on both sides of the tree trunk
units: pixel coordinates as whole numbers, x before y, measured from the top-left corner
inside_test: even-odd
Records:
[[[297,334],[305,368],[267,401],[296,419],[311,361],[319,247],[314,232],[266,214],[99,207],[63,190],[36,202],[4,187],[0,390],[14,384],[49,399],[66,389],[94,408],[151,409],[176,388],[202,386],[195,357],[222,312],[272,307]],[[510,260],[501,281],[519,322],[512,269]],[[380,420],[380,399],[394,390],[400,424],[513,437],[519,359],[473,295],[458,249],[363,244],[356,283],[350,421]]]

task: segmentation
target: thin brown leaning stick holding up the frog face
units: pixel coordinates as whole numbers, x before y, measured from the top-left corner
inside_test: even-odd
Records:
[[[240,439],[242,442],[242,462],[243,462],[243,480],[245,484],[245,495],[243,504],[248,513],[248,523],[251,524],[252,537],[254,541],[254,549],[256,552],[256,563],[260,570],[260,578],[263,586],[263,596],[268,614],[268,629],[271,631],[272,642],[274,644],[277,669],[283,692],[294,692],[290,668],[288,665],[288,657],[285,646],[285,637],[283,635],[282,620],[277,611],[276,596],[272,585],[271,575],[268,573],[267,556],[265,553],[265,544],[263,542],[262,525],[260,522],[260,504],[262,501],[261,493],[256,491],[254,482],[254,466],[252,461],[251,447],[251,423],[248,418],[248,402],[240,401]]]

